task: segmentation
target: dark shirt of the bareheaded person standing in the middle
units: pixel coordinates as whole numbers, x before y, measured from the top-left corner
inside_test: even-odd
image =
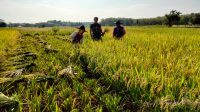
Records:
[[[93,23],[90,25],[91,36],[93,39],[101,39],[102,30],[99,23]]]

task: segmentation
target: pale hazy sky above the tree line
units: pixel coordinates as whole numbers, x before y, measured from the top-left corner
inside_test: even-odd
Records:
[[[171,10],[200,12],[200,0],[0,0],[0,19],[18,23],[91,22],[95,16],[150,18]]]

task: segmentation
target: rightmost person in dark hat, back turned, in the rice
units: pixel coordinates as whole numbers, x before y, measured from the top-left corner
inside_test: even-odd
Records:
[[[123,36],[126,34],[125,28],[121,25],[122,23],[120,21],[115,22],[116,27],[113,31],[113,37],[115,39],[122,39]]]

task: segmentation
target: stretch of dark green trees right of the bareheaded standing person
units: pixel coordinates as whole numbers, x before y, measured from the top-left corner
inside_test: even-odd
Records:
[[[200,13],[181,15],[181,12],[172,10],[169,14],[156,18],[106,18],[101,20],[103,26],[113,26],[114,22],[120,20],[125,26],[145,26],[145,25],[200,25]]]

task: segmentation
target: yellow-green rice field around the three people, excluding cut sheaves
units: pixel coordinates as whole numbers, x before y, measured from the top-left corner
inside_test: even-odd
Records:
[[[22,58],[14,50],[5,60],[34,63],[23,75],[40,73],[55,80],[1,85],[0,92],[14,96],[19,111],[199,111],[200,29],[126,29],[123,40],[114,40],[110,32],[103,42],[93,42],[86,34],[82,45],[65,40],[73,28],[3,30],[0,35],[12,34],[7,37],[13,43],[1,38],[2,48],[37,55]],[[58,75],[69,66],[77,74]]]

